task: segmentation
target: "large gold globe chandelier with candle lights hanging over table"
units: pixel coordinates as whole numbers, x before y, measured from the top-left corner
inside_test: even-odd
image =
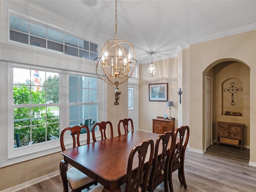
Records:
[[[97,64],[96,74],[98,78],[104,80],[107,84],[115,85],[114,91],[119,93],[118,85],[133,77],[137,60],[132,44],[117,38],[117,5],[115,26],[114,39],[107,40],[103,47],[98,49],[99,57],[95,58],[94,62]],[[118,102],[116,101],[116,103]]]

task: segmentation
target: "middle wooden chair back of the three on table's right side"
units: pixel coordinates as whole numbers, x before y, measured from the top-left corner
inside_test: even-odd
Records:
[[[153,192],[162,182],[164,182],[164,191],[168,192],[168,171],[174,147],[173,131],[164,132],[156,139],[152,170],[148,180],[149,192]]]

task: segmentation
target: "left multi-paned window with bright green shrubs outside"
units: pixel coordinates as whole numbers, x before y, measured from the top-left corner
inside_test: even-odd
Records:
[[[59,138],[58,73],[13,68],[14,148]],[[52,106],[55,103],[56,106]]]

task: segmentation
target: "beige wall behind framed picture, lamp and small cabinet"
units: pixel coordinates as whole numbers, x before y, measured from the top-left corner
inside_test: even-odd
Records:
[[[167,114],[170,116],[170,108],[166,102],[148,101],[148,84],[168,82],[168,100],[174,102],[171,108],[171,116],[175,118],[175,127],[178,127],[178,58],[171,58],[153,62],[156,66],[156,75],[150,77],[148,64],[140,64],[139,80],[139,129],[152,132],[152,119]],[[156,108],[158,105],[158,108]],[[144,109],[146,112],[144,112]]]

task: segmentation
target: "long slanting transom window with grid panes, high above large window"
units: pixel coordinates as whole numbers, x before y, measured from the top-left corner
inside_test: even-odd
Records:
[[[98,44],[10,15],[10,41],[84,59],[98,58]]]

